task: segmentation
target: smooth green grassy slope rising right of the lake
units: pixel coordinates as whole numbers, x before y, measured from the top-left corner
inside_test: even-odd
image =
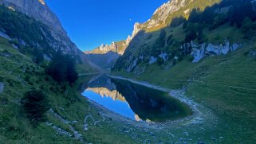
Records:
[[[172,30],[175,39],[183,37],[180,30],[179,27]],[[210,42],[219,43],[226,38],[231,42],[243,41],[240,30],[228,25],[214,31],[205,30],[205,33],[209,33],[207,38]],[[226,56],[204,58],[196,64],[192,64],[187,57],[169,70],[152,64],[140,76],[124,70],[112,74],[148,81],[165,88],[185,87],[188,96],[219,116],[219,130],[216,133],[225,134],[227,142],[252,142],[256,138],[256,60],[245,53],[251,48],[255,49],[256,44],[243,42],[247,43],[243,49]]]

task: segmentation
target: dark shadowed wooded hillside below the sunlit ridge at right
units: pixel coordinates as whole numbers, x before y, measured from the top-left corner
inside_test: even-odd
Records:
[[[223,25],[241,30],[242,38],[250,40],[255,37],[256,31],[255,7],[255,2],[250,0],[224,0],[203,11],[199,8],[191,10],[187,19],[182,16],[173,18],[170,25],[155,32],[142,30],[132,39],[112,70],[123,69],[140,75],[148,64],[157,63],[163,68],[171,68],[191,55],[193,43],[207,44],[208,38],[212,37],[208,35]],[[224,43],[238,39],[221,32],[214,37],[210,42]],[[139,64],[140,68],[137,67]]]

